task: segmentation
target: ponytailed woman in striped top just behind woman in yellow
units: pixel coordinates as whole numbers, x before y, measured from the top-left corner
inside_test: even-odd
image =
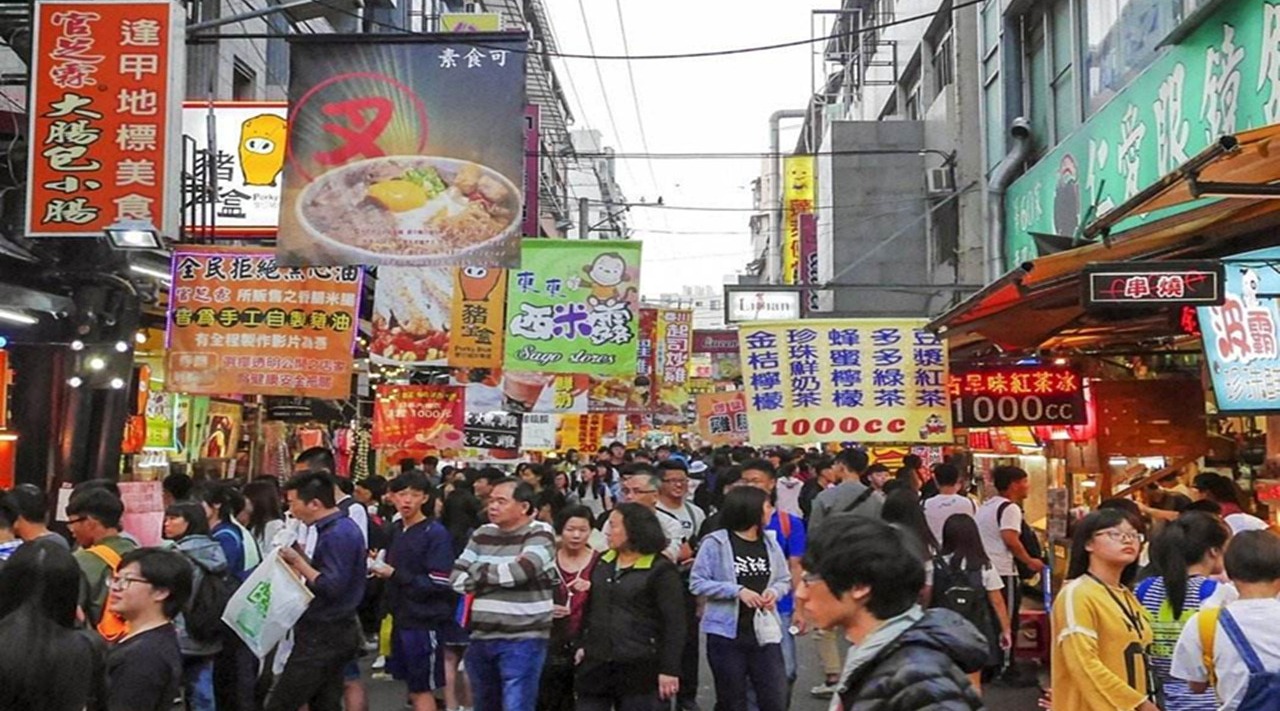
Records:
[[[1188,511],[1169,521],[1151,542],[1153,574],[1134,591],[1151,614],[1155,643],[1151,666],[1164,687],[1165,711],[1213,711],[1213,693],[1192,691],[1170,675],[1174,647],[1188,620],[1217,589],[1212,578],[1222,573],[1222,551],[1231,530],[1204,511]]]

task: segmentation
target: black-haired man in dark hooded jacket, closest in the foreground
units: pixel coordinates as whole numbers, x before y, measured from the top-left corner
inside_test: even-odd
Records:
[[[900,527],[854,514],[827,519],[809,538],[796,602],[820,628],[854,644],[836,694],[845,711],[982,708],[966,674],[987,642],[950,610],[916,605],[924,587],[919,542]]]

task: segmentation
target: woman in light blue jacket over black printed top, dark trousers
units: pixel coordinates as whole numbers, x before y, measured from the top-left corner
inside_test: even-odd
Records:
[[[746,711],[748,685],[760,711],[786,708],[776,609],[791,592],[791,571],[777,538],[764,533],[772,514],[768,502],[769,494],[755,487],[726,493],[719,511],[723,528],[703,539],[689,578],[689,591],[707,598],[701,630],[716,678],[716,705],[724,711]]]

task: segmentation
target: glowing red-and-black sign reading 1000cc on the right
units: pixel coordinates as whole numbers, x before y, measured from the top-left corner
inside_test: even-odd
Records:
[[[956,427],[1068,425],[1089,419],[1084,379],[1074,368],[952,369],[947,387]]]

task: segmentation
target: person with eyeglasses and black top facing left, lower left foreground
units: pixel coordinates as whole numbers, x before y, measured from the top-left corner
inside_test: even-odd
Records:
[[[106,657],[108,711],[168,711],[182,682],[173,619],[191,597],[191,564],[182,553],[138,548],[120,557],[108,607],[129,633]]]

